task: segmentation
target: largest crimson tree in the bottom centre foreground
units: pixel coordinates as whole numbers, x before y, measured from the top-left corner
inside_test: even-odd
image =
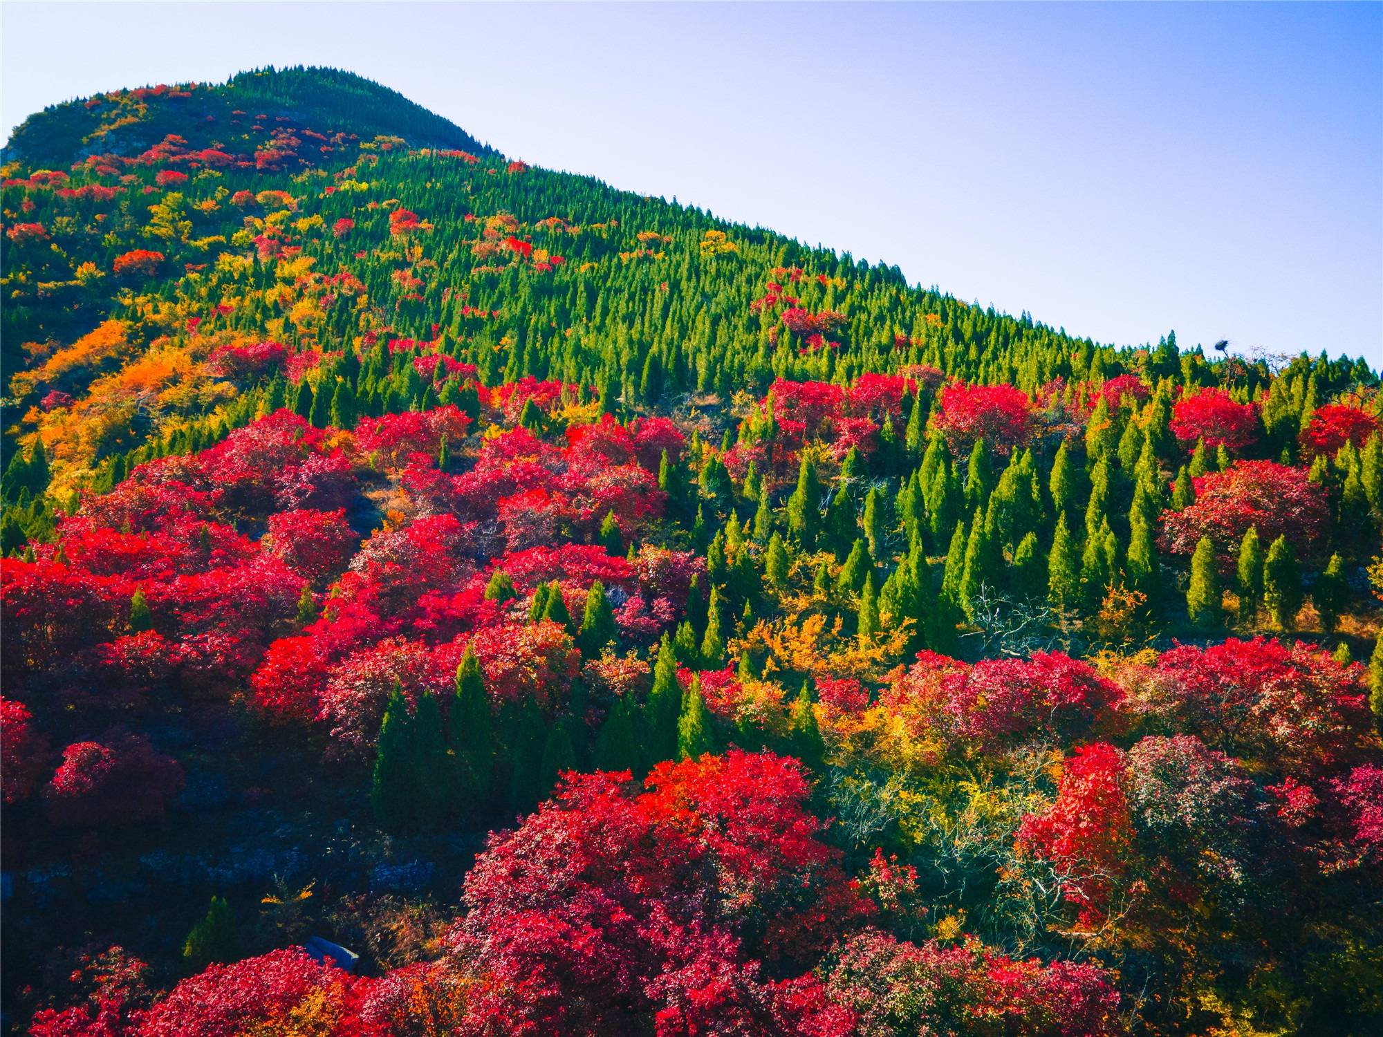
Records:
[[[595,1033],[643,1015],[660,1034],[848,1033],[851,1013],[815,980],[768,982],[757,960],[757,919],[786,939],[823,899],[837,929],[864,910],[816,838],[798,763],[664,763],[642,795],[628,777],[570,774],[555,802],[491,837],[451,935],[484,980],[474,1029]],[[799,949],[808,962],[823,950]]]

